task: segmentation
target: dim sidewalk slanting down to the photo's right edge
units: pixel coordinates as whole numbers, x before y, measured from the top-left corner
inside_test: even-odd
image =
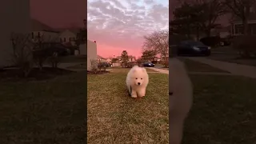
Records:
[[[246,66],[230,62],[221,62],[217,60],[212,60],[208,58],[200,57],[184,57],[195,62],[201,62],[213,67],[216,67],[221,70],[229,71],[231,74],[245,76],[249,78],[256,78],[256,67],[255,66]]]

